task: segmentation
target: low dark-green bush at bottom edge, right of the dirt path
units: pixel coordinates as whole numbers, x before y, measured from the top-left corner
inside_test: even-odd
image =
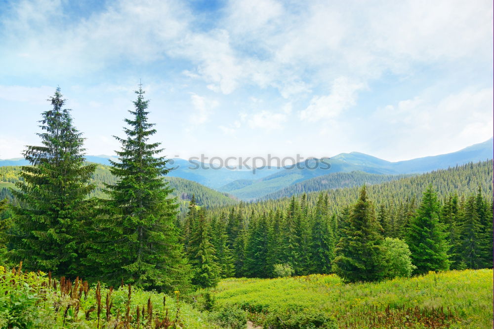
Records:
[[[278,311],[268,314],[265,329],[337,329],[336,320],[323,311],[305,309],[303,311]]]

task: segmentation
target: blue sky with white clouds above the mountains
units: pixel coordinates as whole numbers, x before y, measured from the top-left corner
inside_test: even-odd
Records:
[[[169,157],[406,160],[491,138],[493,78],[487,0],[0,0],[0,158],[57,86],[113,155],[141,81]]]

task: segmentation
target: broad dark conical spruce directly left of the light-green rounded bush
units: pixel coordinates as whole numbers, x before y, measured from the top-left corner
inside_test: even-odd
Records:
[[[386,268],[381,230],[364,186],[350,213],[346,237],[340,239],[335,249],[334,272],[348,282],[382,279]]]

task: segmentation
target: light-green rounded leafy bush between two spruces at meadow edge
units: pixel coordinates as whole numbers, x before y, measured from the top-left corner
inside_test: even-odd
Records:
[[[410,249],[405,241],[394,238],[386,238],[382,244],[384,247],[384,261],[386,263],[385,278],[409,277],[416,268],[412,264]]]

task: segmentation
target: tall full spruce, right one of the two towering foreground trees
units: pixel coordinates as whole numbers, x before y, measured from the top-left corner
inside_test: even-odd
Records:
[[[161,143],[148,143],[156,133],[154,124],[148,123],[149,101],[141,86],[135,93],[135,110],[129,110],[133,118],[124,120],[130,126],[124,128],[127,137],[115,137],[122,144],[117,151],[120,162],[111,161],[118,182],[106,185],[111,197],[106,205],[108,226],[114,230],[115,243],[102,252],[107,259],[102,265],[110,282],[123,279],[170,291],[187,285],[190,267],[174,224],[178,206],[162,178],[169,171],[168,160],[158,156]]]

